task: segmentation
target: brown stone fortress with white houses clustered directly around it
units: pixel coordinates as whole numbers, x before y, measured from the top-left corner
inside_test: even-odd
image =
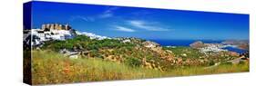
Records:
[[[45,41],[50,40],[66,40],[69,38],[73,38],[77,35],[74,29],[66,24],[43,24],[42,28],[26,30],[24,32],[24,42],[30,42],[31,45],[40,45]],[[28,38],[29,37],[29,38]],[[32,37],[30,39],[30,37]],[[30,41],[26,41],[26,39],[30,39]]]

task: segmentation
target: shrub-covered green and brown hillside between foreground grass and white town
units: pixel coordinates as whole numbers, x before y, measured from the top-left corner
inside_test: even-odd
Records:
[[[105,61],[159,71],[168,71],[181,66],[210,66],[240,57],[239,54],[226,51],[200,53],[199,49],[190,47],[162,47],[158,43],[138,38],[97,40],[90,39],[86,35],[79,35],[66,41],[49,41],[42,49],[56,53],[65,50],[67,54],[76,53],[78,58],[101,58]]]

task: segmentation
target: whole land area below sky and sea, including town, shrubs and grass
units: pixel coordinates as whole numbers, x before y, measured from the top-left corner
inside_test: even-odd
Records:
[[[44,28],[34,30],[36,34],[28,34],[33,39],[24,41],[24,69],[30,71],[32,66],[34,84],[249,72],[249,52],[224,51],[222,43],[199,41],[190,46],[161,46],[134,37],[79,33],[71,27],[60,32]],[[42,36],[47,33],[51,34]],[[30,53],[31,63],[27,58]]]

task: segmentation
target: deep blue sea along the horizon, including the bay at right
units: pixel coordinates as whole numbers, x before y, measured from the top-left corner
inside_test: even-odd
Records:
[[[203,43],[222,43],[224,40],[149,40],[155,43],[159,43],[162,46],[189,46],[190,43],[201,41]],[[236,47],[222,48],[230,52],[246,53],[247,50],[242,50]]]

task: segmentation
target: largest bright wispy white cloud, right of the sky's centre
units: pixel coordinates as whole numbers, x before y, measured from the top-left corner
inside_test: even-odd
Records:
[[[169,29],[162,28],[159,24],[147,23],[145,21],[140,20],[131,20],[128,21],[128,24],[148,31],[169,31]]]

